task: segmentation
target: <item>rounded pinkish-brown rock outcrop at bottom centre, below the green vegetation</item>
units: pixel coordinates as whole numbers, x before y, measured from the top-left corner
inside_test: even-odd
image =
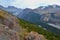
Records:
[[[43,35],[38,34],[37,32],[30,32],[25,34],[24,40],[47,40]]]

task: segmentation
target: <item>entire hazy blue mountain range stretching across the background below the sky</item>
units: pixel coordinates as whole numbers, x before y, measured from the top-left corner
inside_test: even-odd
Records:
[[[18,18],[39,23],[40,21],[49,24],[60,26],[60,6],[48,5],[40,6],[36,9],[20,9],[14,6],[3,7],[0,5],[0,9],[8,11],[10,14],[17,16]],[[52,25],[51,25],[52,26]],[[60,29],[60,28],[59,28]]]

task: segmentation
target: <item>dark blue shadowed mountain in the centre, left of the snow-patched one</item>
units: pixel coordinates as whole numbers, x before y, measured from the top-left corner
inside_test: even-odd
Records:
[[[18,15],[19,17],[20,15]],[[30,21],[30,22],[39,22],[40,15],[33,12],[31,9],[24,9],[20,18]],[[33,21],[34,20],[34,21]]]

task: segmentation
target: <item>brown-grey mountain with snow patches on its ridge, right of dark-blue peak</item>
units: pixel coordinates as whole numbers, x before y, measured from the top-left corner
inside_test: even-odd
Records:
[[[34,9],[34,12],[41,14],[40,20],[55,25],[60,25],[60,6],[48,5]]]

